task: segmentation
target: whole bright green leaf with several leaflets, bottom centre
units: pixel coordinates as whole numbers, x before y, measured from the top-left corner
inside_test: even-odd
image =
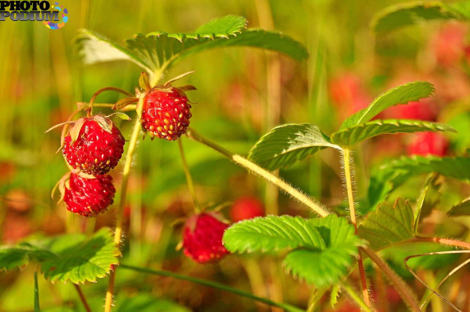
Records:
[[[296,249],[284,259],[286,270],[316,287],[338,282],[362,243],[348,220],[334,214],[315,219],[268,216],[244,220],[230,226],[223,241],[232,252]]]

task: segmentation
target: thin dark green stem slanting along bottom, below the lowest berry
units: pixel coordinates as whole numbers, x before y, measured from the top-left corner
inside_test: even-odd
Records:
[[[175,278],[175,279],[178,279],[178,280],[190,281],[190,282],[193,282],[193,283],[196,283],[196,284],[199,284],[199,285],[204,285],[204,286],[208,286],[208,287],[212,287],[212,288],[216,288],[216,289],[225,290],[225,291],[231,292],[235,295],[247,297],[247,298],[250,298],[250,299],[265,303],[265,304],[269,304],[269,305],[272,305],[272,306],[277,306],[277,307],[283,308],[286,311],[290,311],[290,312],[302,312],[303,311],[302,309],[300,309],[296,306],[293,306],[291,304],[286,304],[286,303],[282,303],[282,302],[274,302],[274,301],[272,301],[268,298],[258,297],[258,296],[255,296],[255,295],[247,292],[247,291],[244,291],[244,290],[241,290],[241,289],[236,289],[236,288],[233,288],[233,287],[230,287],[230,286],[227,286],[227,285],[215,282],[215,281],[202,280],[202,279],[198,279],[198,278],[187,276],[187,275],[172,273],[172,272],[169,272],[169,271],[152,270],[152,269],[148,269],[148,268],[142,268],[142,267],[131,266],[131,265],[120,265],[120,267],[124,268],[124,269],[129,269],[129,270],[141,272],[141,273],[149,273],[149,274],[160,275],[160,276],[168,276],[168,277],[172,277],[172,278]]]

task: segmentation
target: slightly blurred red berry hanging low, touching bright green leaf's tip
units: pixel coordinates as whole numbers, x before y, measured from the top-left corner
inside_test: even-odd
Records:
[[[222,245],[222,236],[228,224],[212,212],[196,214],[183,229],[183,251],[199,264],[219,261],[228,251]]]

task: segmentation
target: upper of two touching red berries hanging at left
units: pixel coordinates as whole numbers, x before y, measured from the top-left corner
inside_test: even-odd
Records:
[[[63,142],[62,152],[67,162],[94,176],[116,167],[125,143],[118,127],[101,115],[78,119]]]

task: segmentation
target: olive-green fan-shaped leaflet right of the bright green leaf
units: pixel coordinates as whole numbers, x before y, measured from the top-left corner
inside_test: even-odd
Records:
[[[381,249],[412,238],[414,219],[410,204],[401,198],[393,206],[381,203],[376,211],[368,213],[359,226],[359,237],[367,240],[372,249]]]

